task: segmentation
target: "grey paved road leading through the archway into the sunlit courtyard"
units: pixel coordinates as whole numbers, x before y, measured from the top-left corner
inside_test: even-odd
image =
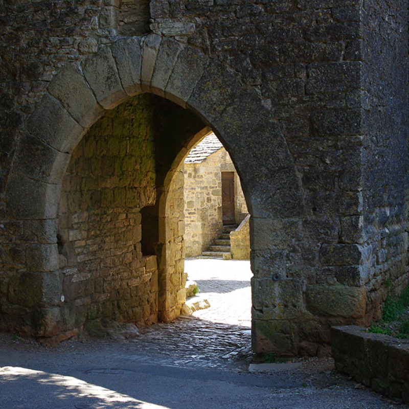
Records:
[[[250,335],[245,315],[249,287],[244,283],[248,279],[239,274],[240,262],[210,261],[211,277],[203,277],[205,273],[194,267],[198,274],[195,278],[202,281],[202,292],[213,297],[213,309],[206,310],[207,319],[193,317],[153,325],[133,340],[67,341],[57,349],[0,333],[0,408],[406,407],[366,388],[355,389],[352,380],[334,372],[331,359],[303,360],[299,369],[268,375],[249,373]],[[194,265],[188,261],[187,268]],[[244,274],[248,277],[248,269]],[[228,286],[220,285],[221,281]],[[247,291],[245,308],[244,303],[232,308],[230,301],[217,301],[220,294],[235,298],[240,291]],[[220,309],[223,304],[228,311]]]

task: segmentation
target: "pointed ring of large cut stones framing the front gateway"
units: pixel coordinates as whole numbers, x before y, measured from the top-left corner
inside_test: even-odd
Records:
[[[284,333],[290,339],[290,333],[274,323],[275,318],[285,319],[288,311],[272,315],[271,299],[277,298],[279,286],[271,271],[286,279],[280,286],[295,300],[293,310],[298,315],[302,289],[285,275],[290,259],[286,244],[271,246],[267,236],[273,219],[289,219],[298,226],[304,209],[280,126],[270,121],[254,90],[244,89],[215,59],[156,35],[119,40],[80,66],[63,67],[26,123],[7,187],[8,214],[23,220],[33,234],[32,241],[24,244],[25,271],[16,284],[23,294],[15,298],[23,308],[13,316],[21,323],[16,324],[19,331],[46,337],[60,331],[56,216],[62,176],[74,148],[104,111],[141,93],[165,97],[195,112],[229,151],[253,217],[254,347],[277,347],[274,334]],[[181,148],[180,157],[188,150]],[[288,350],[287,344],[277,348]]]

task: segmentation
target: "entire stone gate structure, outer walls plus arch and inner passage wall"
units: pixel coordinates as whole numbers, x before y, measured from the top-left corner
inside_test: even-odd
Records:
[[[0,36],[2,330],[177,316],[209,128],[252,216],[254,350],[325,354],[408,283],[403,0],[1,0]]]

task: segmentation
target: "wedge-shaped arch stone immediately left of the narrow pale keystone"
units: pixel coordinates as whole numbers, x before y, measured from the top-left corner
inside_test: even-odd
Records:
[[[111,46],[122,87],[129,96],[142,92],[141,87],[141,37],[131,37],[116,41]]]

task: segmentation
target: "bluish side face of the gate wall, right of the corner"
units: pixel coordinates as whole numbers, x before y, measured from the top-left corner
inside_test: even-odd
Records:
[[[367,324],[381,318],[388,295],[382,284],[399,293],[409,283],[407,205],[409,176],[407,4],[396,0],[365,2],[361,11],[363,113],[360,155],[365,164],[356,175],[362,189],[362,212],[344,222],[345,240],[359,234],[365,248],[368,290]],[[358,45],[358,44],[357,44]],[[351,230],[351,231],[350,231]],[[355,233],[353,233],[355,231]]]

